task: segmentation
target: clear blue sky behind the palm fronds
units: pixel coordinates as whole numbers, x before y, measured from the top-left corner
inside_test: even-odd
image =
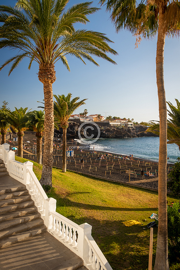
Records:
[[[12,5],[16,0],[1,0],[0,4]],[[70,0],[69,5],[78,2]],[[85,2],[85,1],[84,1]],[[93,2],[98,6],[98,1]],[[134,121],[158,120],[158,95],[156,86],[156,39],[142,40],[135,49],[135,37],[131,33],[115,32],[109,19],[109,13],[103,7],[97,13],[90,15],[90,23],[76,25],[77,29],[85,28],[105,33],[114,43],[111,44],[119,55],[111,56],[117,65],[97,58],[100,67],[68,57],[71,72],[67,71],[62,62],[55,65],[56,82],[53,83],[53,93],[56,95],[72,93],[72,97],[88,98],[84,109],[88,114],[119,116],[134,118]],[[175,104],[174,98],[179,97],[180,89],[180,53],[179,41],[166,38],[164,51],[164,81],[166,100]],[[14,55],[13,50],[0,50],[0,65]],[[43,84],[38,80],[38,64],[34,62],[28,70],[29,60],[23,60],[8,77],[9,67],[0,72],[0,106],[2,101],[9,102],[11,110],[15,107],[28,107],[37,110],[37,101],[43,99]]]

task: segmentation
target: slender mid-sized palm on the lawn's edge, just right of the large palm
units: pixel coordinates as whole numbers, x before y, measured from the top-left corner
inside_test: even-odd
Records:
[[[67,97],[65,95],[54,95],[56,101],[54,101],[54,116],[56,122],[61,125],[63,129],[63,167],[62,172],[66,172],[66,131],[68,128],[68,119],[71,114],[81,105],[85,104],[85,100],[79,100],[79,97],[73,98],[71,100],[72,94],[68,93]]]

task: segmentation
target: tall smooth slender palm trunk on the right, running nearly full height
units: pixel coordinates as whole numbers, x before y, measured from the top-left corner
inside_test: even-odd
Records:
[[[159,118],[160,118],[160,134],[159,134],[159,167],[158,167],[158,240],[156,249],[156,260],[154,270],[169,270],[168,264],[168,246],[167,246],[167,109],[166,95],[164,89],[164,44],[165,34],[162,33],[163,27],[162,8],[159,9],[158,22],[158,41],[156,52],[156,79],[158,87],[159,100]]]

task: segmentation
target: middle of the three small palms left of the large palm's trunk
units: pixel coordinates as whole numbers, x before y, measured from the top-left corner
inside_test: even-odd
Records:
[[[15,131],[18,130],[18,156],[23,157],[23,136],[24,131],[28,129],[29,123],[29,111],[28,108],[17,109],[15,107],[14,112],[9,112],[7,115],[8,122],[10,123],[12,129]]]

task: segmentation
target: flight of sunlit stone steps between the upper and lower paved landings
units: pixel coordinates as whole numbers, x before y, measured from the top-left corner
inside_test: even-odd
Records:
[[[0,179],[0,248],[46,232],[25,186],[18,181],[18,185],[7,185],[10,176]],[[2,180],[6,185],[2,185]]]

